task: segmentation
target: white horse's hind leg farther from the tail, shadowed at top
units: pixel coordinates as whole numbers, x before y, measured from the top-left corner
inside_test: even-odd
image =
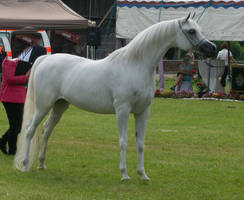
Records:
[[[39,153],[39,169],[44,169],[45,168],[45,154],[46,154],[46,149],[47,149],[47,142],[48,138],[50,137],[52,130],[56,126],[56,124],[59,122],[59,120],[62,117],[62,114],[65,112],[65,110],[69,107],[69,103],[65,100],[58,100],[52,110],[51,113],[48,117],[48,119],[44,123],[44,129],[43,129],[43,137],[42,137],[42,143],[41,143],[41,148],[40,148],[40,153]]]

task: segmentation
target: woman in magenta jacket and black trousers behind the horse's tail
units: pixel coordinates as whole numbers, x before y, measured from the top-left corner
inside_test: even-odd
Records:
[[[21,129],[26,96],[24,85],[30,75],[30,71],[28,71],[25,75],[15,76],[17,62],[18,60],[13,61],[5,58],[2,63],[0,101],[7,113],[9,129],[0,138],[0,150],[9,155],[14,155],[16,152],[17,136]]]

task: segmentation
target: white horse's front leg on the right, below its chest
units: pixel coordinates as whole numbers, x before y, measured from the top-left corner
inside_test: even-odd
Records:
[[[135,117],[135,130],[136,130],[136,147],[137,147],[137,173],[141,176],[142,180],[149,180],[144,169],[144,140],[147,119],[150,113],[148,106],[142,113],[134,114]]]

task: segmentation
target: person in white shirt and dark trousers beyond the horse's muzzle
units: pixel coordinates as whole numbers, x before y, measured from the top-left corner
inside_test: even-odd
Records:
[[[225,85],[226,85],[226,77],[229,73],[228,49],[229,49],[228,43],[224,42],[221,46],[221,50],[219,51],[219,53],[217,55],[217,60],[224,60],[224,62],[225,62],[224,74],[221,77],[221,85],[223,87],[225,87]],[[232,62],[237,64],[236,60],[232,56],[231,51],[229,51],[229,55],[230,55],[230,59],[232,60]]]

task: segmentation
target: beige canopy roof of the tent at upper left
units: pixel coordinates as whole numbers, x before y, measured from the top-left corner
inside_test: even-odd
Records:
[[[2,29],[81,29],[88,20],[61,0],[0,0]]]

